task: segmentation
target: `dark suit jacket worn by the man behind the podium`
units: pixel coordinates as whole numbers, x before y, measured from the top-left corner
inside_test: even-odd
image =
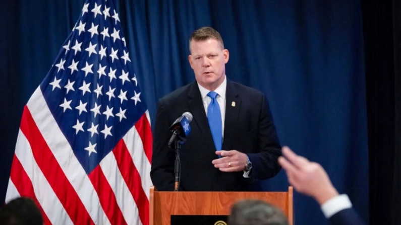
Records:
[[[233,106],[235,102],[235,106]],[[214,168],[212,134],[196,82],[177,89],[159,100],[153,133],[150,177],[159,191],[174,190],[175,152],[167,146],[169,126],[184,112],[190,112],[191,133],[182,145],[180,190],[250,191],[255,180],[275,176],[281,169],[281,155],[273,119],[263,93],[227,79],[223,150],[237,150],[252,162],[250,178],[244,172],[221,172]]]

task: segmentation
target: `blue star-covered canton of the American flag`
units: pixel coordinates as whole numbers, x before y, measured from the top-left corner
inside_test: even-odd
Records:
[[[120,128],[123,129],[122,132],[126,132],[124,129],[129,127],[120,127],[117,121],[122,122],[123,119],[126,119],[125,122],[131,121],[129,120],[131,119],[130,112],[136,108],[134,104],[142,104],[141,92],[138,91],[137,93],[136,90],[138,89],[135,88],[139,86],[137,78],[130,65],[127,67],[127,62],[132,64],[130,52],[127,49],[128,43],[126,38],[123,37],[123,33],[120,34],[120,32],[123,32],[120,25],[115,26],[112,24],[113,20],[116,25],[121,23],[119,14],[116,10],[113,10],[113,7],[107,7],[106,5],[109,4],[100,3],[99,1],[84,4],[82,13],[80,13],[81,18],[71,31],[72,36],[61,44],[60,53],[63,57],[58,57],[54,61],[50,70],[52,74],[45,81],[45,85],[47,84],[46,92],[43,93],[46,98],[50,99],[60,97],[54,99],[56,101],[54,106],[55,114],[53,112],[54,119],[59,124],[67,125],[67,127],[64,126],[63,128],[63,133],[67,138],[77,138],[79,135],[81,141],[72,146],[77,148],[74,151],[87,151],[88,159],[91,155],[94,155],[91,160],[99,157],[98,161],[103,156],[97,156],[97,148],[103,154],[104,146],[97,146],[97,143],[100,144],[101,142],[103,144],[107,140],[104,143],[108,146],[108,142],[113,142],[117,137],[116,135],[120,133]],[[98,15],[99,19],[97,19]],[[82,36],[80,36],[81,33],[83,33]],[[107,41],[105,40],[106,37],[108,37]],[[77,55],[77,53],[79,54]],[[105,60],[103,60],[103,57]],[[114,60],[116,60],[116,64],[114,64]],[[60,72],[61,70],[64,71]],[[70,73],[70,76],[68,73]],[[89,77],[87,77],[88,74],[90,75]],[[65,76],[65,78],[62,76]],[[60,79],[58,79],[59,77]],[[68,81],[67,84],[65,83],[66,80]],[[125,82],[128,84],[126,85]],[[134,89],[129,90],[127,87],[134,87]],[[56,90],[54,92],[55,89],[60,89],[60,91]],[[72,92],[71,94],[70,91]],[[133,91],[134,93],[132,93]],[[104,96],[103,93],[105,93]],[[67,100],[67,97],[69,100]],[[117,98],[119,98],[120,104],[118,104],[119,100]],[[131,102],[131,100],[133,101]],[[68,111],[68,109],[71,111]],[[63,113],[61,113],[62,111]],[[82,114],[83,112],[85,113]],[[69,117],[67,118],[70,121],[68,124],[65,124],[66,116]],[[76,121],[75,124],[73,121]],[[117,125],[119,126],[116,128]],[[110,138],[107,139],[108,136]],[[103,137],[104,140],[101,139]],[[86,153],[84,154],[86,155]]]

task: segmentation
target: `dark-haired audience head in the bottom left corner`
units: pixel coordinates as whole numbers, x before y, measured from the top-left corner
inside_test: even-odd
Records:
[[[10,201],[0,209],[0,225],[43,225],[42,214],[35,202],[27,197]]]

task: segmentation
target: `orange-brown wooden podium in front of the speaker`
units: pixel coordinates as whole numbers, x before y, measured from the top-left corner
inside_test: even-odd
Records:
[[[171,215],[228,215],[241,199],[259,199],[280,208],[293,224],[293,187],[288,192],[164,192],[150,188],[149,225],[170,225]]]

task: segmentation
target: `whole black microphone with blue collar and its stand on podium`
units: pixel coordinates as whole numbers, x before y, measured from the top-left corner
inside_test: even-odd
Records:
[[[189,125],[191,121],[192,114],[190,112],[185,112],[182,116],[176,119],[173,125],[169,128],[170,132],[173,132],[173,135],[171,135],[170,140],[168,141],[168,146],[176,152],[176,161],[174,163],[174,191],[178,191],[180,186],[180,149],[181,144],[187,140],[187,136],[191,132],[191,127]]]

